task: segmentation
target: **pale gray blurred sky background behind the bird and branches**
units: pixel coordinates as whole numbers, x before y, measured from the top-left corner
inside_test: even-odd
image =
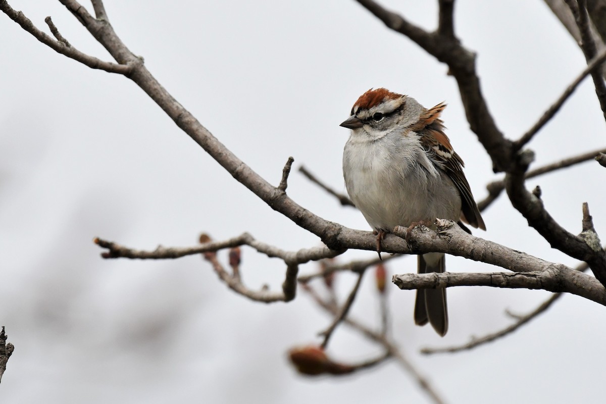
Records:
[[[447,67],[353,1],[105,3],[118,34],[168,91],[273,184],[293,156],[295,167],[305,164],[344,190],[348,133],[338,124],[359,94],[382,86],[427,107],[448,102],[448,134],[478,199],[498,177],[468,129]],[[44,18],[51,15],[73,45],[109,59],[59,2],[11,4],[47,32]],[[435,2],[384,4],[435,27]],[[585,65],[538,0],[458,1],[456,28],[478,51],[485,96],[510,137],[527,130]],[[216,239],[250,231],[285,249],[319,240],[235,182],[128,79],[58,55],[4,15],[0,37],[0,322],[16,346],[2,403],[427,402],[395,363],[344,378],[298,376],[285,352],[318,342],[316,333],[329,322],[304,294],[289,304],[250,302],[198,256],[101,259],[95,236],[137,248],[191,245],[201,231]],[[590,80],[529,147],[537,164],[604,147]],[[604,236],[605,179],[606,170],[588,162],[528,187],[541,184],[548,210],[574,233],[581,230],[581,203],[589,202]],[[368,230],[361,214],[339,207],[296,171],[288,192],[325,219]],[[528,228],[505,197],[484,218],[488,231],[478,236],[576,265]],[[413,271],[415,260],[389,269]],[[448,258],[450,271],[494,269]],[[278,288],[284,265],[244,248],[242,271],[247,285]],[[342,295],[353,280],[339,277]],[[369,281],[353,315],[378,323]],[[449,290],[451,327],[440,339],[413,325],[413,292],[392,286],[393,334],[448,402],[601,402],[606,311],[579,297],[565,296],[497,343],[417,354],[421,346],[462,343],[501,328],[511,321],[505,308],[525,313],[548,296]],[[354,361],[379,349],[339,328],[329,352]]]

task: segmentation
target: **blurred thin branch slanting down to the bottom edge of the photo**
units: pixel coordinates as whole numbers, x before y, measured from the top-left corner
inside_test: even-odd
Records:
[[[332,314],[333,316],[336,316],[338,314],[338,308],[335,305],[330,305],[330,303],[325,302],[324,299],[322,299],[310,285],[308,285],[307,283],[302,283],[301,288],[302,290],[306,291],[311,296],[311,298],[316,303],[318,303],[318,305],[321,306],[325,311]],[[398,346],[395,343],[391,342],[387,338],[387,336],[381,333],[376,333],[370,327],[365,326],[358,320],[351,319],[351,317],[345,317],[343,322],[358,331],[359,333],[361,333],[362,335],[364,335],[365,337],[367,337],[368,339],[373,340],[374,342],[381,345],[388,353],[386,359],[388,357],[393,357],[394,359],[396,359],[399,365],[401,365],[402,368],[404,368],[404,370],[408,374],[410,374],[413,379],[416,380],[417,384],[419,385],[419,388],[421,388],[426,394],[428,394],[428,396],[431,398],[431,400],[433,400],[433,402],[435,402],[436,404],[444,403],[444,400],[442,400],[441,397],[438,395],[438,392],[436,392],[436,389],[431,385],[430,381],[428,379],[425,379],[424,376],[422,376],[416,366],[413,365],[410,360],[408,360],[408,358],[398,349]]]

